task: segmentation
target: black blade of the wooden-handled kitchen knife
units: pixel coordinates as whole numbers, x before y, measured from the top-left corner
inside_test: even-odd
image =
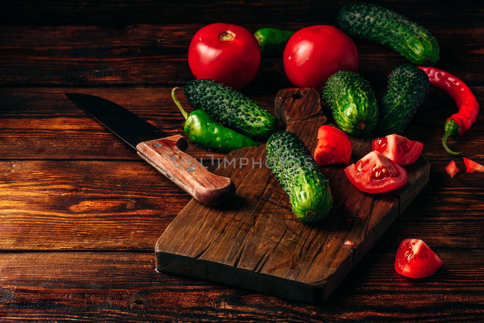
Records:
[[[65,96],[133,149],[141,142],[168,136],[150,122],[109,100],[81,93],[65,93]]]

